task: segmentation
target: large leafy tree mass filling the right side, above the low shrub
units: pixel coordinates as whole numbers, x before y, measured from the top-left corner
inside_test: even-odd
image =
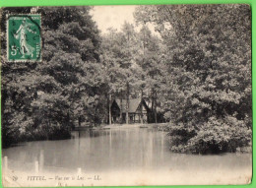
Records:
[[[141,23],[154,23],[166,46],[165,117],[179,125],[170,130],[171,136],[177,135],[179,129],[187,131],[173,142],[172,150],[185,145],[187,150],[199,152],[193,147],[200,143],[217,152],[226,150],[224,146],[236,142],[237,137],[224,134],[221,140],[225,142],[218,143],[221,132],[216,130],[220,126],[243,131],[246,139],[241,143],[246,145],[251,137],[249,7],[144,6],[137,9],[135,16]],[[239,123],[233,124],[234,119]],[[216,135],[199,134],[205,127]],[[182,143],[179,139],[184,137],[187,139]]]

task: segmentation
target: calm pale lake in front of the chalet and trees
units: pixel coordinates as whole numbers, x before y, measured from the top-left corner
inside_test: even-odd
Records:
[[[2,150],[2,157],[20,170],[33,169],[32,162],[42,157],[44,170],[50,171],[251,171],[251,154],[173,154],[165,134],[150,128],[75,131],[71,140],[29,142]]]

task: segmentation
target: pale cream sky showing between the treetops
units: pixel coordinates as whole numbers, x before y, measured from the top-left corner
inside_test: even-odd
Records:
[[[122,5],[122,6],[94,6],[91,15],[96,21],[98,29],[102,33],[106,33],[108,28],[117,29],[120,31],[122,25],[126,21],[136,27],[133,13],[137,6]],[[154,33],[153,25],[148,25],[149,29]],[[137,31],[140,27],[137,28]]]

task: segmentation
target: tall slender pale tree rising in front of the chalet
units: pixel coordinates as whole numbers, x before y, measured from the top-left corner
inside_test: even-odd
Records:
[[[124,23],[121,31],[113,29],[108,31],[102,39],[101,61],[108,75],[109,94],[112,98],[126,99],[125,108],[128,109],[129,98],[137,96],[135,86],[138,82],[138,74],[141,74],[140,67],[135,61],[139,50],[137,32],[129,23]],[[109,99],[109,105],[110,103]],[[126,110],[126,123],[128,119]]]

